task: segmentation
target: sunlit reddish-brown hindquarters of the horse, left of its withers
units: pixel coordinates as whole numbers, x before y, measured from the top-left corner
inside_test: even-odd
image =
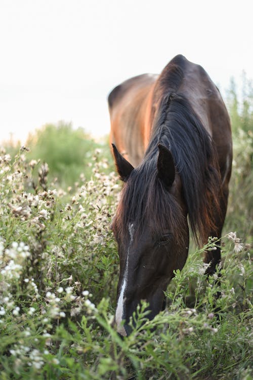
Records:
[[[142,74],[115,87],[108,96],[110,142],[137,166],[149,141],[152,90],[158,75]]]

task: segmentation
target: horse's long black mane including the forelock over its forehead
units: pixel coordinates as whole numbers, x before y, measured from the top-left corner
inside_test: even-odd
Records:
[[[128,236],[128,226],[134,220],[138,221],[137,239],[145,222],[154,220],[152,233],[162,233],[170,225],[175,238],[180,239],[178,234],[184,216],[177,200],[157,177],[158,143],[171,150],[196,243],[204,244],[211,233],[217,233],[215,217],[220,212],[221,189],[217,151],[187,98],[180,92],[172,92],[179,88],[182,72],[178,65],[172,65],[169,74],[173,81],[168,78],[170,75],[163,75],[163,72],[160,75],[158,93],[163,96],[149,146],[142,163],[132,171],[122,189],[113,221],[114,232],[122,238]],[[173,86],[168,87],[167,83]]]

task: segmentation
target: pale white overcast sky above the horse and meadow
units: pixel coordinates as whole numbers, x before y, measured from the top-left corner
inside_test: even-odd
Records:
[[[109,133],[107,96],[177,54],[223,95],[253,79],[253,4],[227,0],[0,0],[0,141],[47,123]]]

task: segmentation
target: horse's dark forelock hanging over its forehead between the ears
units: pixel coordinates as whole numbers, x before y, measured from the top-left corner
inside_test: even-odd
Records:
[[[157,154],[132,171],[124,184],[112,228],[122,241],[129,239],[129,225],[135,224],[134,243],[149,226],[152,235],[162,235],[168,227],[181,239],[183,213],[174,196],[157,177]]]

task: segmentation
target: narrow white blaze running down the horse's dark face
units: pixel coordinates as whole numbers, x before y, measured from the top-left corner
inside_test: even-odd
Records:
[[[120,289],[120,294],[119,294],[118,303],[117,303],[117,309],[116,309],[116,313],[115,313],[115,321],[116,321],[116,325],[117,325],[117,332],[123,336],[126,335],[126,332],[125,332],[124,326],[122,326],[121,322],[122,322],[123,313],[124,313],[124,301],[125,301],[124,293],[125,293],[126,285],[128,284],[129,249],[130,249],[130,246],[133,242],[133,234],[134,234],[134,224],[132,223],[132,224],[129,224],[130,244],[128,247],[128,253],[126,255],[125,271],[124,271],[124,275],[123,275],[122,286]]]

